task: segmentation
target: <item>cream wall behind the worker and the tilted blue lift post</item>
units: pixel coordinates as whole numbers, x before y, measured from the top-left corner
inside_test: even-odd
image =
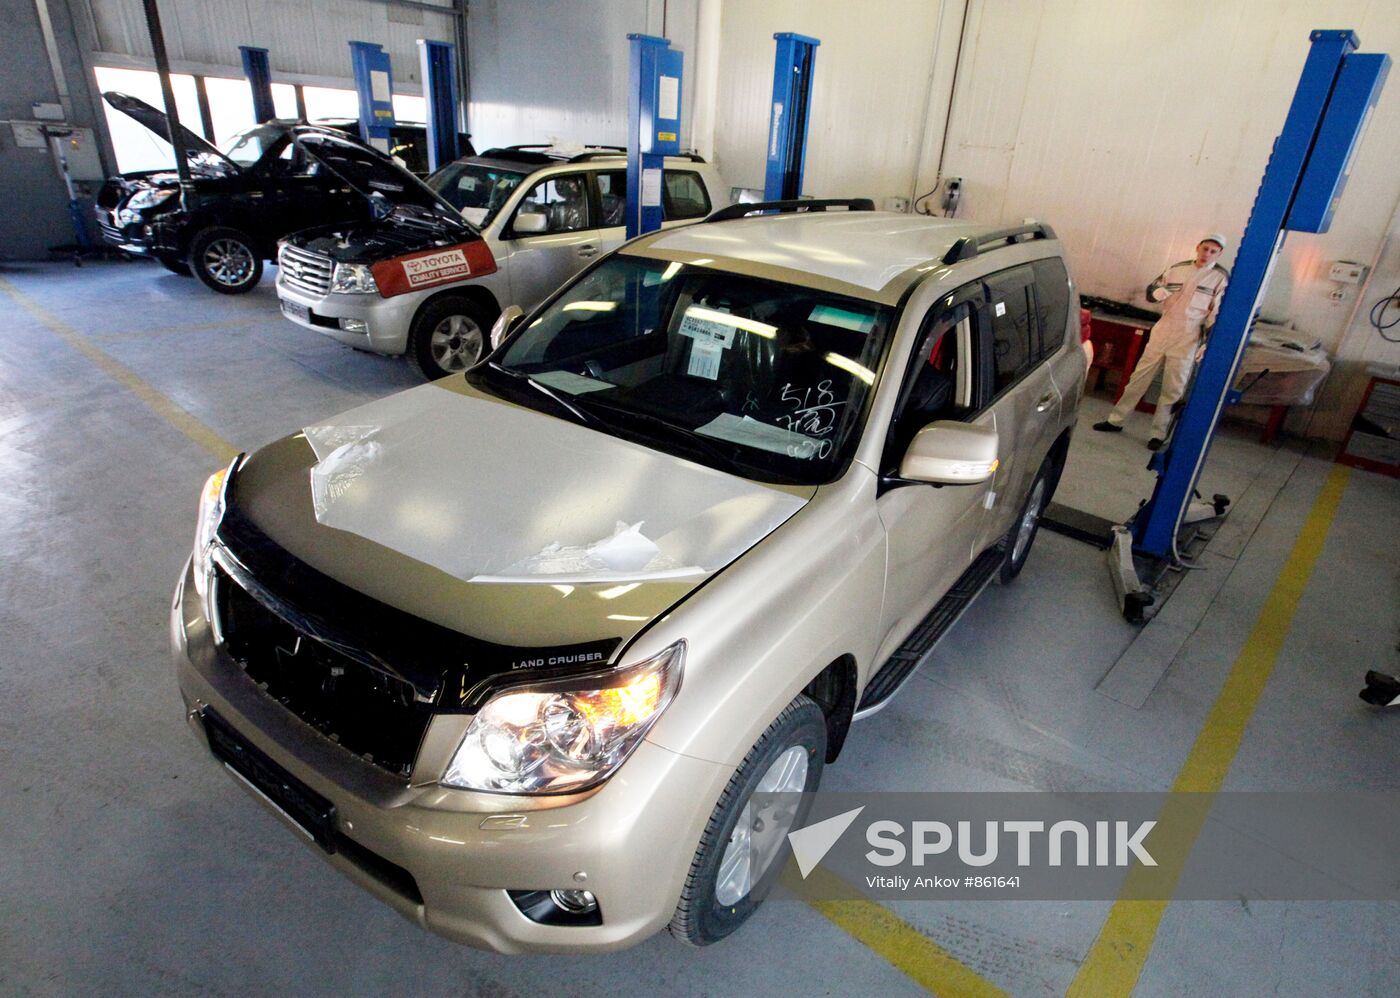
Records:
[[[973,0],[944,174],[966,178],[965,214],[1046,218],[1085,291],[1141,302],[1142,286],[1204,232],[1228,234],[1233,260],[1317,27],[1355,29],[1364,52],[1400,52],[1393,1]],[[1264,301],[1264,315],[1292,319],[1338,357],[1313,434],[1344,431],[1364,358],[1400,360],[1364,328],[1364,308],[1354,315],[1400,283],[1389,258],[1359,295],[1333,301],[1327,280],[1333,260],[1371,263],[1394,231],[1397,162],[1392,78],[1331,231],[1288,237]]]

